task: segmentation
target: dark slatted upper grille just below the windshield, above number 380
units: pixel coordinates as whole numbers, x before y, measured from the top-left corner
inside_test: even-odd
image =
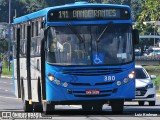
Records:
[[[93,69],[65,69],[63,74],[78,75],[78,76],[95,76],[95,75],[107,75],[115,74],[124,71],[121,68],[93,68]]]

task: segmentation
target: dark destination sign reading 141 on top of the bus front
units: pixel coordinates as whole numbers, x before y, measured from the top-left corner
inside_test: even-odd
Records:
[[[52,10],[48,13],[48,21],[68,20],[107,20],[129,19],[130,13],[126,9],[115,8],[77,8]]]

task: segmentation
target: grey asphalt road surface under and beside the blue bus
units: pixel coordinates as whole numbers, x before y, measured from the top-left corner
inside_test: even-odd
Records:
[[[13,84],[11,79],[0,79],[0,112],[21,112],[23,113],[23,104],[21,100],[18,100],[14,96]],[[41,113],[39,113],[41,114]],[[43,114],[42,114],[43,115]],[[125,102],[123,115],[112,115],[111,107],[108,105],[103,106],[102,112],[87,112],[82,113],[81,106],[56,106],[54,115],[48,115],[49,117],[56,118],[56,120],[125,120],[127,117],[132,116],[136,119],[142,119],[142,116],[146,120],[159,119],[160,117],[160,97],[157,97],[156,106],[138,106],[137,102]],[[158,116],[158,117],[152,117]],[[131,118],[132,119],[132,118]],[[144,118],[143,118],[144,119]],[[126,119],[127,120],[127,119]],[[135,120],[135,119],[134,119]]]

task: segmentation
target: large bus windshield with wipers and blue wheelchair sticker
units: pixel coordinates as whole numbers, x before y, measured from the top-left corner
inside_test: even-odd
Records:
[[[49,27],[47,61],[56,65],[117,65],[133,60],[129,24]]]

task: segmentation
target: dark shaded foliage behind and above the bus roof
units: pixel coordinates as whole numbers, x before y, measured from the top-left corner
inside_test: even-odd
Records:
[[[133,11],[133,21],[136,21],[143,9],[142,2],[144,0],[11,0],[11,18],[15,16],[15,11],[16,16],[19,17],[24,14],[43,9],[45,7],[69,4],[78,1],[129,5]],[[0,0],[0,22],[8,22],[8,2],[9,0]]]

